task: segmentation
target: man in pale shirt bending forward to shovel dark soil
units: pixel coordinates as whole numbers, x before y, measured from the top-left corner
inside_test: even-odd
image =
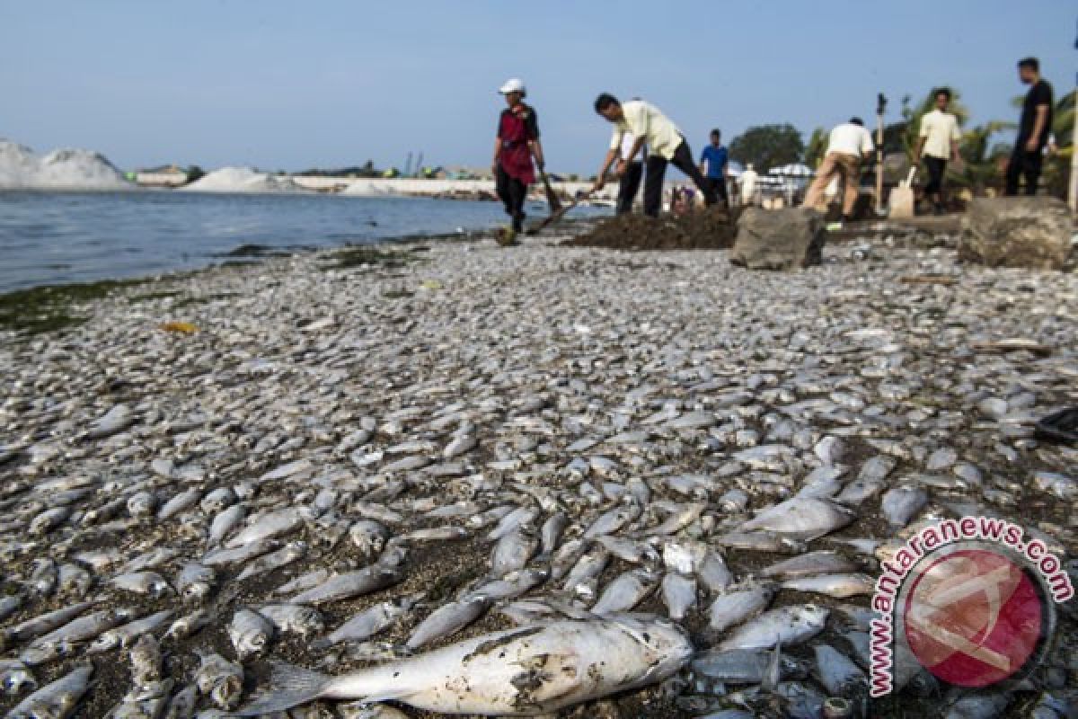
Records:
[[[660,112],[659,108],[644,100],[630,100],[622,105],[614,96],[604,93],[595,100],[595,111],[613,123],[614,130],[610,138],[610,150],[603,161],[593,191],[602,190],[606,184],[606,174],[619,155],[621,160],[618,162],[618,175],[622,176],[627,170],[628,164],[647,144],[647,175],[644,180],[645,215],[659,217],[663,204],[663,179],[666,176],[667,164],[673,164],[692,179],[703,193],[706,205],[710,206],[718,202],[715,191],[692,161],[692,152],[681,130]],[[632,133],[635,139],[633,147],[623,152],[622,141],[626,133]]]

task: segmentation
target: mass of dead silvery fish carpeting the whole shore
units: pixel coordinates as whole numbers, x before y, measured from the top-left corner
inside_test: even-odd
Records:
[[[1073,553],[1078,279],[865,247],[305,255],[0,342],[0,711],[1074,716],[1067,608],[1017,686],[867,676],[918,526]]]

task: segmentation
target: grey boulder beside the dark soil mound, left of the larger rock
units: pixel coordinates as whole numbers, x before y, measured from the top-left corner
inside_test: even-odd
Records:
[[[730,262],[749,269],[797,269],[819,264],[824,216],[807,207],[763,210],[750,207],[737,221]]]

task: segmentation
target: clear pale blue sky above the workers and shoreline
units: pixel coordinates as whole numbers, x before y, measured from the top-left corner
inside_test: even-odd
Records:
[[[694,152],[711,126],[807,139],[868,119],[879,91],[894,119],[944,83],[973,122],[1013,119],[1018,58],[1074,86],[1076,16],[1066,0],[0,0],[0,137],[124,168],[485,165],[494,91],[520,75],[551,167],[591,174],[600,91],[651,100]]]

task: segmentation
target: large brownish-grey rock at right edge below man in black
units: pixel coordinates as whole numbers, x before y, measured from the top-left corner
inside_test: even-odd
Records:
[[[992,267],[1062,269],[1074,220],[1054,197],[982,197],[962,219],[958,257]]]

